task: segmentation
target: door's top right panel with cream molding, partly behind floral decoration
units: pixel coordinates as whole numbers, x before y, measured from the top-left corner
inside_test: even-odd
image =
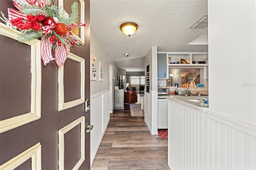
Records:
[[[84,0],[58,0],[59,8],[62,6],[64,10],[70,15],[72,13],[71,5],[77,2],[78,3],[78,18],[76,24],[84,23]],[[72,33],[78,39],[78,42],[84,45],[84,27],[74,27]]]

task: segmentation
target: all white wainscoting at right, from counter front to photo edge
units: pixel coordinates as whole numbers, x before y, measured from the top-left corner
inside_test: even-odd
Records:
[[[256,126],[169,100],[171,170],[255,170]]]

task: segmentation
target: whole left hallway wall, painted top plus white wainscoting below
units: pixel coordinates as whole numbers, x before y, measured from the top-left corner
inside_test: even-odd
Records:
[[[100,142],[102,140],[104,132],[108,126],[108,122],[110,120],[110,112],[112,112],[114,109],[114,89],[112,89],[111,95],[111,90],[109,89],[109,82],[110,79],[112,79],[113,86],[116,86],[118,84],[118,82],[116,81],[118,75],[118,67],[116,65],[116,62],[111,61],[110,57],[107,55],[105,49],[102,47],[92,28],[90,37],[91,53],[97,57],[97,62],[101,61],[104,64],[103,81],[98,80],[99,73],[97,73],[96,75],[96,81],[90,80],[90,123],[94,125],[94,130],[90,132],[90,152],[92,164],[98,147],[100,146]],[[110,65],[112,65],[112,75],[110,75],[109,72],[109,68],[111,67]],[[110,102],[111,96],[113,96],[112,103]]]

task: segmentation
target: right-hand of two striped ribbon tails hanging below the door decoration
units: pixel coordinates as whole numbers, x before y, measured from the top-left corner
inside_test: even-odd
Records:
[[[66,46],[60,45],[55,48],[55,50],[54,50],[54,55],[56,58],[55,62],[59,68],[61,68],[62,64],[65,63],[69,51],[70,51],[69,45],[66,45]]]

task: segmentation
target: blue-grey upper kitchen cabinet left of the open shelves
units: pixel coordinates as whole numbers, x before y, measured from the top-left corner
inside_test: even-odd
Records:
[[[158,79],[168,79],[168,57],[167,53],[157,54],[157,77]]]

